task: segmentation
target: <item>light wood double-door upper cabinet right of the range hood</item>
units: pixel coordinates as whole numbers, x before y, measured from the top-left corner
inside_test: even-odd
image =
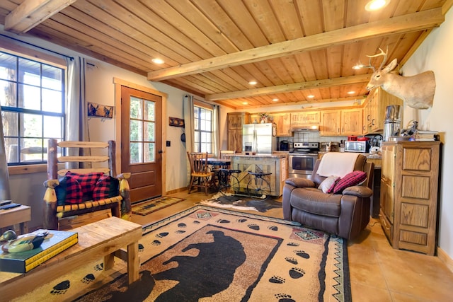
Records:
[[[321,110],[321,136],[362,134],[362,108]]]

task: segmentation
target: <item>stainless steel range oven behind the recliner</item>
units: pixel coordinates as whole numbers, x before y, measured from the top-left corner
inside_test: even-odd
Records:
[[[319,143],[294,143],[294,150],[288,155],[289,178],[308,178],[318,159]]]

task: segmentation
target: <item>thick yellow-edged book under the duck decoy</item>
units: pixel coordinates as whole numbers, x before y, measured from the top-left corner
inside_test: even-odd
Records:
[[[28,272],[79,242],[78,234],[71,231],[40,229],[33,233],[45,231],[49,232],[50,236],[47,235],[38,248],[25,252],[4,252],[0,250],[0,272]]]

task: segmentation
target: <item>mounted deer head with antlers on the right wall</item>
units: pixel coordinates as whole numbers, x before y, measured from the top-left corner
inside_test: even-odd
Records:
[[[386,63],[387,52],[384,52],[380,48],[379,50],[381,51],[379,54],[367,56],[369,57],[369,66],[366,67],[374,71],[367,84],[367,90],[381,86],[384,91],[401,98],[409,107],[415,109],[428,109],[432,107],[436,87],[434,72],[425,71],[415,76],[392,74],[390,71],[394,70],[397,65],[396,59],[393,59],[390,64],[382,68]],[[384,59],[379,69],[376,70],[371,65],[371,59],[379,56],[384,56]]]

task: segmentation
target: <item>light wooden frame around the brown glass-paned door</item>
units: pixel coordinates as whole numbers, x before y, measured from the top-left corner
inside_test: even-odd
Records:
[[[121,122],[122,122],[122,117],[121,117],[121,87],[125,86],[127,88],[132,88],[136,89],[138,91],[144,91],[146,93],[151,93],[154,95],[159,95],[162,98],[162,187],[161,187],[161,192],[162,195],[166,195],[166,144],[164,142],[166,141],[166,112],[167,112],[167,97],[168,95],[166,93],[163,93],[161,91],[156,91],[152,88],[137,85],[128,81],[124,81],[122,79],[117,79],[113,78],[113,83],[115,84],[115,141],[119,141],[121,143]],[[115,152],[115,157],[116,157],[116,170],[117,172],[122,172],[121,171],[121,144],[117,143],[116,147],[116,152]]]

